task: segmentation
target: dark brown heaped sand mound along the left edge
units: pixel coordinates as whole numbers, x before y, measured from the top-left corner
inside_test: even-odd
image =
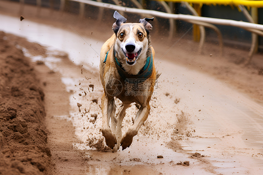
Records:
[[[0,174],[51,174],[44,93],[27,57],[0,32]]]

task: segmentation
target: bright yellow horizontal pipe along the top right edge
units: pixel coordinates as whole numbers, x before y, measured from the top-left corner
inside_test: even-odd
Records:
[[[154,0],[161,1],[161,0]],[[263,7],[263,1],[253,1],[253,0],[164,0],[166,2],[188,2],[188,3],[198,3],[198,4],[217,4],[217,5],[245,5],[249,7]]]

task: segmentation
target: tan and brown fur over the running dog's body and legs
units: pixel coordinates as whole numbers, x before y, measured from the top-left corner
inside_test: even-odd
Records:
[[[142,30],[144,37],[146,36],[146,31],[143,28],[143,25],[140,23],[126,23],[122,24],[125,25],[125,28],[121,28],[120,31],[117,33],[117,37],[120,32],[122,31],[129,31],[130,28],[127,28],[128,26],[134,26],[133,33],[137,35],[137,30]],[[148,43],[150,41],[139,41],[142,38],[136,38],[136,41],[138,42],[147,42],[146,45],[146,50],[148,47],[152,49],[152,55],[153,55],[153,72],[150,78],[145,80],[144,82],[139,84],[139,89],[128,89],[128,90],[134,90],[136,92],[140,92],[140,94],[143,95],[138,95],[138,96],[133,96],[133,95],[127,95],[125,92],[127,90],[124,89],[125,84],[124,81],[121,79],[120,75],[117,72],[117,68],[114,63],[114,57],[113,57],[113,46],[117,47],[117,43],[121,42],[118,40],[115,34],[111,36],[102,46],[101,49],[101,58],[100,58],[100,78],[101,82],[104,88],[104,93],[102,96],[102,135],[105,137],[106,144],[113,149],[113,151],[117,151],[120,148],[120,144],[122,145],[122,149],[124,150],[125,148],[129,147],[132,143],[132,139],[135,135],[137,135],[139,128],[142,126],[142,124],[146,121],[149,113],[150,113],[150,104],[149,101],[151,99],[152,93],[154,91],[154,85],[155,85],[155,80],[156,80],[156,70],[154,67],[154,49],[150,45],[148,46]],[[135,36],[133,36],[135,37]],[[124,40],[125,38],[123,38]],[[126,38],[127,39],[127,38]],[[118,40],[118,41],[117,41]],[[145,45],[145,44],[144,44]],[[111,49],[110,49],[111,48]],[[106,64],[103,63],[106,53],[109,51],[108,56],[107,56],[107,61]],[[123,53],[116,53],[117,55],[122,56]],[[146,53],[145,53],[146,54]],[[142,55],[144,56],[144,55]],[[119,58],[118,58],[119,59]],[[139,58],[138,60],[146,60],[146,58]],[[120,60],[121,62],[122,60]],[[124,64],[124,61],[123,61]],[[140,67],[140,69],[144,66],[145,61],[139,62],[136,64]],[[117,85],[122,86],[122,91],[120,94],[116,95],[115,97],[119,98],[122,103],[124,104],[120,112],[117,114],[117,117],[115,117],[115,111],[116,111],[116,106],[114,103],[114,97],[111,96],[108,92],[113,89],[118,89],[120,86],[113,86],[110,87],[109,84],[114,83]],[[127,133],[124,134],[122,137],[121,133],[121,124],[122,120],[125,116],[125,110],[130,107],[131,103],[136,102],[141,105],[139,111],[136,114],[134,124],[128,129]],[[109,121],[111,118],[111,128],[109,127]],[[116,145],[115,145],[116,144]]]

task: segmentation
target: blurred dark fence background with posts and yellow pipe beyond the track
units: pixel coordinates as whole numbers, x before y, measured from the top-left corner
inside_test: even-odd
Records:
[[[78,14],[80,18],[93,18],[95,20],[103,21],[103,16],[112,15],[113,9],[106,9],[89,5],[85,2],[89,0],[11,0],[17,1],[21,4],[36,5],[47,7],[52,10],[61,11],[63,13]],[[113,5],[150,9],[172,14],[189,14],[194,16],[212,17],[219,19],[230,19],[236,21],[245,21],[256,24],[263,24],[263,1],[249,1],[249,0],[166,0],[166,1],[152,1],[152,0],[97,0],[98,2],[109,3]],[[83,3],[84,2],[84,3]],[[39,12],[40,12],[39,9]],[[146,17],[144,14],[135,14],[129,16],[131,13],[121,12],[132,19],[139,17]],[[147,16],[151,17],[151,16]],[[193,26],[192,32],[187,35],[192,35],[194,41],[200,42],[200,49],[203,42],[218,41],[219,45],[225,46],[239,46],[245,49],[250,49],[250,59],[255,52],[263,52],[263,37],[261,33],[253,34],[251,31],[240,27],[233,27],[227,25],[211,25],[208,23],[198,23],[191,20],[174,20],[158,17],[155,19],[155,25],[158,25],[157,31],[167,33],[169,37],[175,34],[183,34]],[[194,25],[193,25],[194,24]],[[196,25],[199,24],[199,25]],[[156,29],[156,27],[155,27]],[[215,32],[216,31],[216,32]],[[156,31],[155,31],[156,32]],[[261,31],[259,31],[261,32]],[[259,34],[259,35],[257,35]],[[242,44],[241,44],[242,43]],[[223,48],[223,46],[221,47]]]

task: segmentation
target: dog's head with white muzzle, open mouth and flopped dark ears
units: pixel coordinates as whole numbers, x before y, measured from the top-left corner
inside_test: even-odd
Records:
[[[146,62],[146,52],[150,46],[149,31],[152,25],[148,21],[154,18],[140,19],[139,23],[126,23],[126,18],[115,11],[113,31],[116,34],[114,49],[117,52],[117,59],[122,64],[124,70],[137,75]]]

